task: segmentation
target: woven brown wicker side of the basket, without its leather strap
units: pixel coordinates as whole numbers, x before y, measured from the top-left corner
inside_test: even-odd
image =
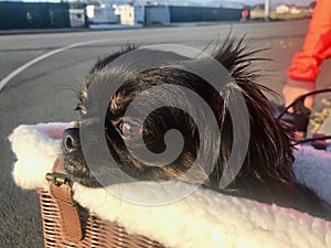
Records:
[[[43,219],[44,245],[45,248],[66,247],[66,248],[163,248],[158,241],[153,241],[140,235],[129,235],[124,227],[116,223],[99,219],[92,213],[88,213],[82,206],[78,206],[78,213],[82,220],[84,239],[78,244],[68,241],[61,230],[61,218],[56,201],[47,191],[39,190],[41,214]]]

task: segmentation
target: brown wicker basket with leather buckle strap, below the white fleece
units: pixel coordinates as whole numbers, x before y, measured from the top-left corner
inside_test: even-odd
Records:
[[[39,190],[45,247],[164,247],[140,235],[129,235],[117,223],[106,222],[77,204],[72,184],[57,159],[46,174],[49,190]]]

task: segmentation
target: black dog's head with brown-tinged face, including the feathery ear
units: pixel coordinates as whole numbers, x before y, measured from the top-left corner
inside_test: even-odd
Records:
[[[168,56],[174,56],[179,62],[188,60],[182,55],[158,52],[152,56],[151,64],[154,64],[152,68],[136,72],[134,65],[139,64],[139,58],[130,57],[130,53],[135,50],[136,47],[129,46],[99,61],[84,83],[76,108],[82,114],[82,119],[76,122],[75,128],[64,132],[63,139],[65,169],[73,180],[88,186],[99,186],[96,179],[107,174],[113,175],[109,183],[120,182],[122,177],[117,174],[119,170],[136,180],[180,179],[192,183],[202,182],[203,185],[216,190],[232,148],[235,147],[233,133],[235,130],[228,109],[228,101],[235,89],[243,96],[248,110],[249,143],[233,185],[239,184],[241,179],[275,183],[292,181],[291,136],[286,127],[274,118],[269,101],[261,93],[266,88],[256,83],[256,72],[249,68],[252,61],[256,60],[254,58],[256,52],[247,52],[242,41],[234,40],[228,40],[215,50],[214,60],[221,63],[234,79],[220,93],[199,75],[180,67],[164,66],[159,62],[167,61]],[[129,64],[122,65],[118,60],[122,56],[126,56],[124,61],[129,61]],[[173,64],[173,61],[171,62]],[[195,63],[196,65],[199,66],[199,63]],[[224,82],[224,78],[220,78],[221,80]],[[154,86],[179,87],[174,90],[171,87],[160,89]],[[215,151],[212,145],[205,145],[204,149],[210,150],[203,151],[216,155],[213,159],[213,168],[207,168],[197,160],[201,143],[209,144],[215,139],[211,134],[202,137],[200,133],[199,121],[202,121],[205,133],[212,133],[209,131],[210,127],[203,122],[204,110],[200,114],[200,120],[196,120],[182,108],[175,107],[180,104],[186,106],[186,109],[200,108],[179,94],[178,90],[183,88],[203,99],[215,117],[220,132],[220,148]],[[111,90],[115,91],[109,95]],[[137,104],[135,99],[139,96],[143,96],[143,101]],[[103,107],[105,103],[96,100],[104,98],[107,98],[106,108]],[[157,106],[160,103],[163,107],[147,114],[149,106]],[[134,110],[128,111],[131,104]],[[146,119],[143,122],[137,121],[137,116],[146,116]],[[93,131],[96,123],[102,123],[98,126],[103,128],[100,136],[96,136]],[[90,161],[86,162],[82,151],[79,137],[82,125],[84,129],[88,129],[85,132],[87,137],[84,138],[84,144],[86,150],[93,148],[93,170]],[[173,143],[171,140],[164,141],[166,133],[173,129],[181,133],[183,143],[181,152],[169,163],[160,164],[139,159],[128,148],[138,151],[148,149],[154,154],[160,154],[171,147],[178,147],[178,139],[174,139]],[[141,137],[142,143],[138,142]],[[114,161],[107,161],[104,153],[99,152],[105,150],[100,147],[105,144],[100,139],[106,140],[107,151]],[[195,169],[190,170],[193,164]]]

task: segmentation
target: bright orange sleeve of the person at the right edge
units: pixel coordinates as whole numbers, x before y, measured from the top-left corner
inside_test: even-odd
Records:
[[[321,63],[328,57],[331,57],[331,0],[318,0],[302,51],[295,54],[287,75],[314,82]]]

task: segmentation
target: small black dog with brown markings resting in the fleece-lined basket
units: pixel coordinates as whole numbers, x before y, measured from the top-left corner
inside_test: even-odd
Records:
[[[169,52],[161,53],[162,57],[153,56],[153,68],[129,74],[128,72],[132,71],[130,65],[122,66],[116,61],[135,50],[136,47],[128,46],[99,61],[84,83],[76,108],[82,114],[82,120],[76,122],[75,128],[65,131],[63,140],[63,159],[72,180],[95,187],[100,186],[97,177],[104,173],[113,175],[109,183],[122,180],[117,176],[116,166],[105,161],[102,153],[98,154],[99,150],[103,150],[98,147],[99,140],[105,139],[108,152],[119,164],[119,169],[137,180],[181,179],[195,183],[203,179],[203,186],[224,194],[253,198],[267,204],[275,203],[320,217],[330,215],[310,190],[298,185],[295,181],[292,133],[274,117],[270,104],[261,93],[268,89],[256,83],[256,72],[249,68],[250,62],[257,60],[254,58],[256,52],[246,52],[247,48],[242,41],[235,42],[231,39],[215,50],[213,57],[229,72],[236,83],[228,83],[220,96],[220,93],[200,76],[160,64],[158,60],[167,61],[167,56],[174,56]],[[175,56],[178,61],[188,60],[182,55]],[[129,55],[127,60],[130,60]],[[130,63],[131,65],[139,63],[139,60],[132,58]],[[103,106],[98,106],[97,101],[92,99],[107,97],[116,80],[122,80],[124,84],[108,98],[107,109],[103,109]],[[186,175],[196,160],[200,139],[209,141],[213,137],[200,137],[196,122],[185,111],[171,106],[158,108],[148,116],[142,126],[137,125],[134,117],[129,116],[124,119],[128,106],[140,93],[161,85],[189,88],[212,109],[221,133],[221,148],[211,171],[207,171],[204,164],[197,164],[197,170]],[[97,90],[92,90],[92,87]],[[220,181],[233,145],[234,126],[227,107],[228,96],[233,88],[239,90],[245,99],[249,115],[250,138],[242,169],[226,188],[220,190]],[[152,104],[154,98],[154,96],[147,95],[146,105]],[[171,98],[171,91],[160,93],[160,98]],[[177,98],[175,100],[184,99]],[[136,111],[143,111],[143,105],[136,108]],[[96,123],[102,123],[104,129],[102,137],[93,133]],[[82,125],[89,128],[86,149],[94,149],[94,163],[98,166],[93,172],[87,166],[88,163],[81,148],[79,127]],[[163,138],[170,129],[179,130],[184,138],[182,152],[170,164],[156,166],[143,162],[131,154],[126,145],[127,143],[135,145],[137,137],[142,136],[146,148],[153,153],[161,153],[167,149]]]

